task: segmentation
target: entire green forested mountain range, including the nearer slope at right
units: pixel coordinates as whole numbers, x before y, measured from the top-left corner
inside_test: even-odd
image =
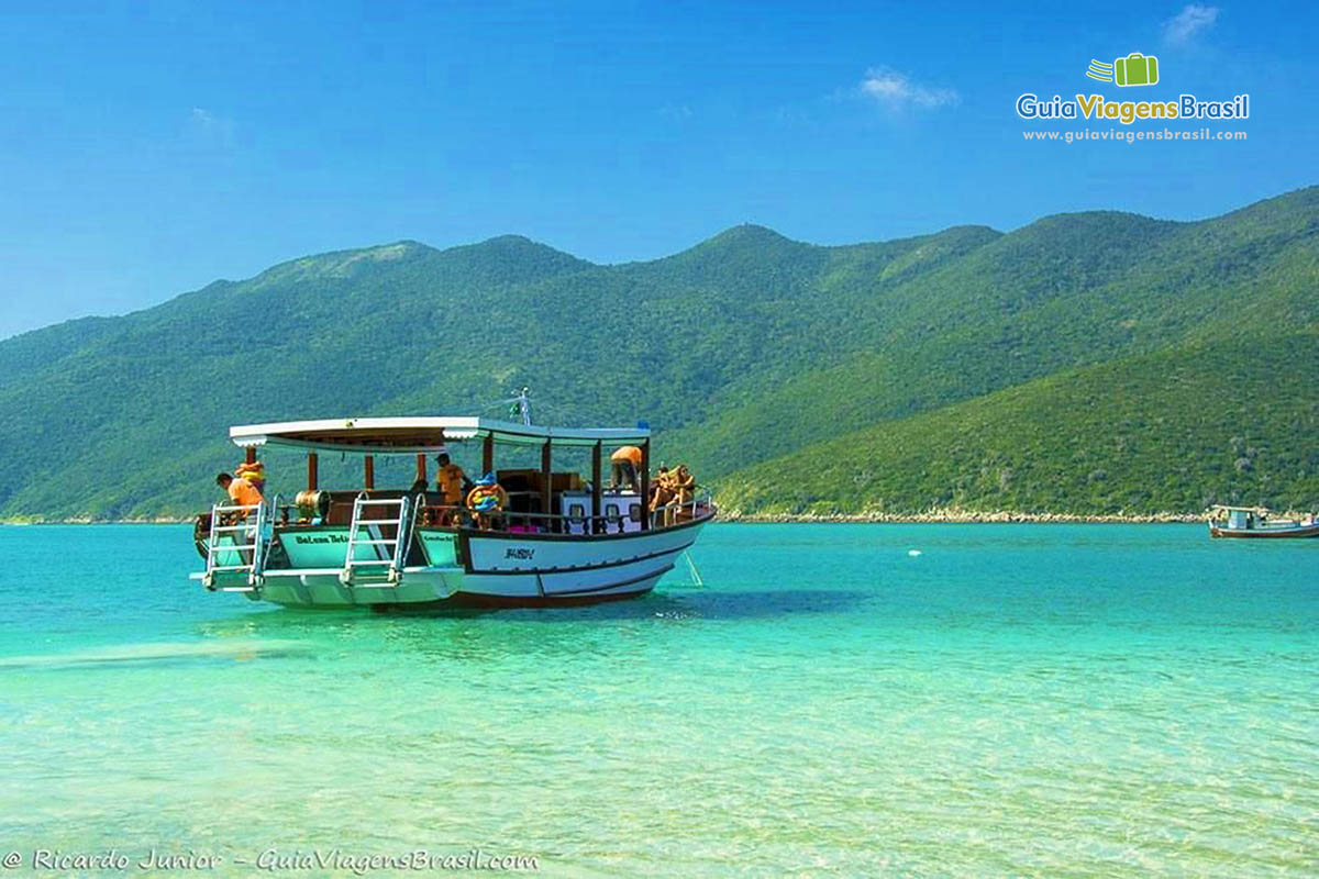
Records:
[[[744,511],[1319,505],[1319,187],[814,246],[737,227],[598,266],[404,241],[0,341],[0,517],[206,506],[228,424],[648,419]],[[295,461],[272,485],[295,489]]]

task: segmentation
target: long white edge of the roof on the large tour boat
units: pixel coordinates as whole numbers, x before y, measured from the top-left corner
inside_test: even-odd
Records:
[[[301,448],[335,448],[357,452],[430,452],[442,448],[442,444],[425,444],[415,447],[368,447],[360,444],[314,443],[294,434],[315,431],[342,431],[346,428],[360,430],[364,434],[372,430],[435,430],[445,431],[445,439],[462,441],[481,436],[495,436],[496,440],[506,443],[538,443],[543,440],[568,444],[594,444],[596,441],[627,441],[646,440],[650,438],[648,428],[624,427],[539,427],[536,424],[517,424],[491,418],[463,416],[435,416],[435,415],[405,415],[397,418],[322,418],[302,422],[270,422],[266,424],[237,424],[230,428],[230,439],[235,445],[293,445]]]

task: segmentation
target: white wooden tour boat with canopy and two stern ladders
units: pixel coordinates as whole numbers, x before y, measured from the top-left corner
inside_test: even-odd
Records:
[[[356,418],[230,428],[255,464],[262,448],[306,452],[307,485],[243,506],[216,503],[197,518],[211,590],[298,608],[369,605],[571,605],[649,592],[715,518],[703,493],[649,509],[650,431],[566,430],[487,418]],[[415,455],[418,485],[430,456],[480,447],[481,473],[505,489],[503,509],[472,515],[430,490],[375,488],[375,456]],[[496,469],[496,445],[539,452],[539,468]],[[603,486],[601,456],[641,449],[640,490]],[[554,449],[587,452],[591,478],[557,472]],[[322,489],[318,456],[360,456],[361,488]],[[472,449],[475,456],[475,449]]]

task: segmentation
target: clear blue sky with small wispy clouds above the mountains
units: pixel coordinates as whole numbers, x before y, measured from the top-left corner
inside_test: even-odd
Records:
[[[0,337],[400,239],[621,262],[744,221],[844,244],[1319,182],[1299,3],[26,5],[0,8]],[[1130,51],[1159,86],[1086,79]],[[1024,91],[1249,92],[1215,125],[1249,140],[1026,144],[1084,124],[1020,120]]]

